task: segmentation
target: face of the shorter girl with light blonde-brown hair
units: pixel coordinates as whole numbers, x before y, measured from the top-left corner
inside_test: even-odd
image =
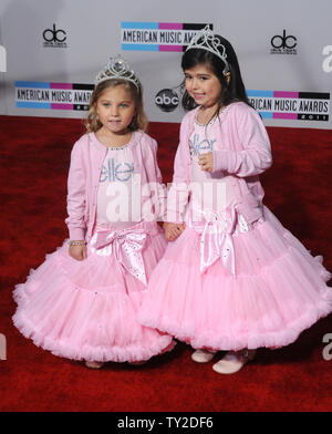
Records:
[[[105,133],[125,134],[136,114],[135,101],[124,84],[108,87],[96,102],[96,113]]]

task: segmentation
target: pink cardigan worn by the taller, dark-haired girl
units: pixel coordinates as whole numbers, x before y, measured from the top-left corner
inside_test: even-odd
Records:
[[[184,221],[190,183],[189,137],[199,107],[187,113],[180,125],[180,142],[174,162],[173,186],[167,202],[168,221]],[[219,115],[214,154],[214,172],[221,170],[232,177],[236,210],[248,223],[261,218],[263,189],[258,175],[272,164],[270,141],[259,114],[246,103],[228,105]],[[219,122],[218,120],[216,122]],[[169,216],[175,218],[169,218]]]

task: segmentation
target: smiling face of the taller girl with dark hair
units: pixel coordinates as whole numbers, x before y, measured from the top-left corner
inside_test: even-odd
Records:
[[[210,108],[218,104],[221,84],[208,65],[198,64],[185,70],[185,83],[188,94],[198,105]]]

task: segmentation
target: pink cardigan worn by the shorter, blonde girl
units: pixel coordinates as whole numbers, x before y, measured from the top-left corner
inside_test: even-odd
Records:
[[[132,145],[135,174],[141,175],[141,185],[162,185],[157,165],[157,143],[147,134],[135,132]],[[72,240],[91,239],[97,205],[97,189],[107,147],[93,133],[84,134],[73,146],[68,177],[68,215],[65,223]],[[159,200],[166,193],[158,189]],[[158,204],[159,205],[159,204]],[[159,210],[156,210],[158,214]]]

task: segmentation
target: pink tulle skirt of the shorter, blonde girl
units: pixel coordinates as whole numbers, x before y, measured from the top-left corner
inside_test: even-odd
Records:
[[[152,225],[142,251],[147,280],[166,248]],[[15,327],[37,345],[73,360],[143,361],[170,350],[172,337],[137,321],[146,286],[113,254],[87,248],[87,259],[77,261],[65,241],[17,286]]]

